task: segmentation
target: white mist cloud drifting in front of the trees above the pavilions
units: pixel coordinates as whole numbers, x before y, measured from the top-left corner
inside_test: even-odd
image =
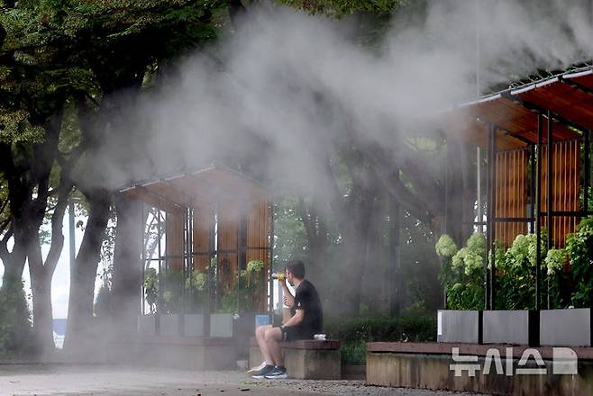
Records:
[[[477,64],[484,93],[593,52],[586,1],[436,1],[423,18],[398,14],[379,51],[354,37],[349,20],[251,9],[167,85],[124,101],[112,126],[121,139],[96,154],[107,164],[97,180],[114,187],[255,157],[273,178],[323,191],[330,175],[320,150],[348,137],[407,155],[397,138],[418,120],[475,98]]]

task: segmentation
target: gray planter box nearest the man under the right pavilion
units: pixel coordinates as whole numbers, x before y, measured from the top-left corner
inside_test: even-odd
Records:
[[[439,310],[437,312],[437,342],[481,344],[482,312]]]

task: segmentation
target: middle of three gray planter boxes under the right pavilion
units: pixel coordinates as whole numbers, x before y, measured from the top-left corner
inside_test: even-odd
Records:
[[[539,317],[536,311],[484,311],[484,344],[537,346]]]

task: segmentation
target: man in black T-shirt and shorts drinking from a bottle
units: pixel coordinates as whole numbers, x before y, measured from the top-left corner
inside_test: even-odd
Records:
[[[295,290],[293,297],[287,287],[287,281]],[[300,260],[292,260],[286,266],[286,278],[278,279],[284,291],[284,304],[289,307],[284,311],[281,326],[265,325],[255,330],[255,337],[260,346],[265,365],[252,375],[252,378],[287,378],[280,342],[296,339],[311,339],[320,333],[323,325],[321,302],[315,286],[305,279],[305,265]]]

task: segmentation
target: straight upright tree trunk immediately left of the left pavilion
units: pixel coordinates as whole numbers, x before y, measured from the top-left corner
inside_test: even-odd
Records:
[[[141,202],[114,198],[117,229],[114,246],[114,277],[110,311],[116,331],[130,335],[136,329],[136,318],[141,314]]]

